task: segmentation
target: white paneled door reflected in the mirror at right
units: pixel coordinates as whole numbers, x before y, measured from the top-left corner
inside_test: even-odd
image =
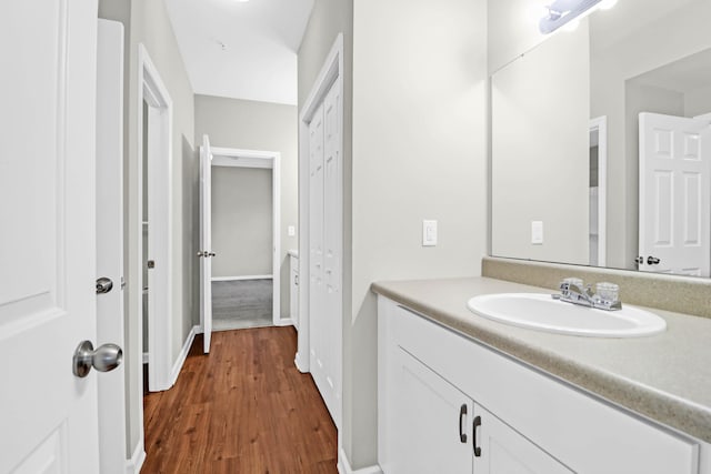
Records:
[[[640,113],[641,271],[710,276],[711,127]]]

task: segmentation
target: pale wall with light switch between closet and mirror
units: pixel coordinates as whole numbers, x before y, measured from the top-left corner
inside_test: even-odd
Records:
[[[487,242],[487,2],[359,0],[344,447],[375,458],[378,280],[478,275]],[[439,243],[421,245],[422,220]]]

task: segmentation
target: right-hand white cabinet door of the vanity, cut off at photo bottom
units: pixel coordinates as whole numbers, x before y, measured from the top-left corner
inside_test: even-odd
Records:
[[[570,474],[573,471],[474,404],[474,474]],[[478,451],[481,450],[481,451]]]

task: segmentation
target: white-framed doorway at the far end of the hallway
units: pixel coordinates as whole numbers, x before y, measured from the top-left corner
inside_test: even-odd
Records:
[[[287,325],[281,317],[279,152],[201,150],[201,321],[212,331]]]

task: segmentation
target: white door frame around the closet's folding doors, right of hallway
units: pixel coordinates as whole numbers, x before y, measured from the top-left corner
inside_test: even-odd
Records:
[[[309,93],[303,109],[299,114],[299,334],[298,334],[298,346],[297,354],[294,357],[294,364],[297,369],[307,373],[310,372],[310,361],[309,354],[311,353],[311,337],[309,335],[310,331],[310,320],[311,315],[309,312],[309,288],[310,288],[310,258],[309,258],[309,201],[310,201],[310,173],[309,173],[309,124],[311,123],[311,119],[316,113],[319,105],[326,99],[326,95],[330,91],[331,87],[334,85],[339,88],[340,97],[343,97],[343,34],[339,33],[331,47],[331,50],[321,67],[321,71],[313,82],[313,87],[311,88],[311,92]],[[343,108],[339,108],[339,148],[341,150],[341,157],[343,155]],[[342,235],[342,204],[343,204],[343,165],[339,167],[339,194],[340,200],[339,204],[341,208],[341,260],[343,256],[343,235]],[[341,272],[343,265],[341,264]],[[341,292],[343,291],[343,275],[341,273]],[[342,294],[342,293],[341,293]],[[342,302],[341,302],[342,303]],[[342,304],[341,304],[342,309]],[[340,333],[341,337],[336,342],[338,345],[337,351],[342,354],[343,350],[343,317],[339,319],[340,323]],[[342,357],[341,357],[341,366],[339,370],[339,377],[342,381]],[[342,383],[340,384],[342,390]],[[342,403],[342,397],[341,397]],[[339,410],[339,413],[342,413],[342,410]]]

